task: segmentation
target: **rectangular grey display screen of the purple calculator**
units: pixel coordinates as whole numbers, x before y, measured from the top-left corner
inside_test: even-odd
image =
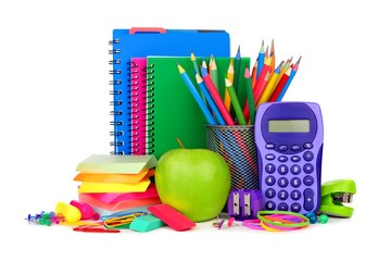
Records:
[[[308,133],[308,120],[269,120],[269,133]]]

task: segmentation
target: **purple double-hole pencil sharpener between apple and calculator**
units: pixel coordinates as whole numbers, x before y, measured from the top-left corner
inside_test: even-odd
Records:
[[[228,214],[237,220],[256,219],[262,206],[261,190],[235,189],[228,197]]]

